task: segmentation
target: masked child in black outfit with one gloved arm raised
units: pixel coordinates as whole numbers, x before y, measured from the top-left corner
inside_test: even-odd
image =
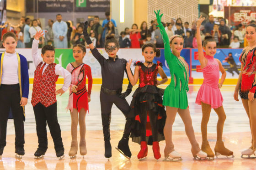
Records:
[[[119,141],[117,150],[121,152],[128,159],[131,158],[132,153],[129,149],[128,141],[129,135],[131,133],[131,120],[128,118],[128,113],[130,111],[130,106],[126,101],[126,97],[132,92],[133,86],[129,82],[126,92],[122,93],[123,87],[123,75],[124,72],[127,73],[126,63],[127,61],[123,58],[117,56],[117,51],[119,49],[118,42],[116,38],[112,35],[106,37],[105,50],[108,54],[108,59],[104,58],[92,44],[89,34],[87,32],[88,22],[85,22],[84,36],[85,41],[91,48],[92,55],[101,64],[101,75],[102,75],[102,85],[100,93],[101,101],[101,119],[103,126],[103,135],[105,141],[105,157],[110,158],[112,156],[112,148],[110,144],[110,120],[111,120],[111,108],[115,104],[119,108],[125,118],[126,123],[124,126],[123,138]]]

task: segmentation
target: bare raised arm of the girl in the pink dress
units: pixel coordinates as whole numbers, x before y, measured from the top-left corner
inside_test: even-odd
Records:
[[[203,55],[203,45],[202,45],[202,38],[200,33],[200,26],[203,21],[204,21],[204,17],[202,17],[201,15],[197,21],[197,48],[198,48],[198,57],[199,57],[199,62],[201,64],[201,68],[205,67],[208,62]]]

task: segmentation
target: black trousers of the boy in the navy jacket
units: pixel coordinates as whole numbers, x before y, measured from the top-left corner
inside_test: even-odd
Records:
[[[15,146],[22,147],[24,140],[23,108],[20,106],[21,95],[19,84],[0,86],[0,147],[6,145],[6,127],[10,108],[14,119]]]

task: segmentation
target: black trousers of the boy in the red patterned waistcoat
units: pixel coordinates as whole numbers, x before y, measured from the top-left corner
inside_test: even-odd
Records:
[[[48,148],[46,123],[50,129],[51,136],[53,138],[55,151],[64,150],[61,131],[57,118],[57,103],[54,103],[47,108],[42,103],[37,103],[33,107],[36,125],[37,125],[37,137],[38,137],[38,149],[46,151]]]

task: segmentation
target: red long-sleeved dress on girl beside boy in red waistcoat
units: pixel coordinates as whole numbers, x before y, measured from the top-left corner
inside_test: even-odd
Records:
[[[71,84],[69,89],[69,103],[67,109],[73,112],[73,108],[80,112],[81,108],[85,112],[89,112],[88,97],[91,97],[92,77],[91,67],[83,63],[78,67],[74,67],[71,63],[66,68],[71,73]],[[88,91],[86,89],[86,76],[88,78]],[[76,85],[77,92],[72,92],[72,86]]]

